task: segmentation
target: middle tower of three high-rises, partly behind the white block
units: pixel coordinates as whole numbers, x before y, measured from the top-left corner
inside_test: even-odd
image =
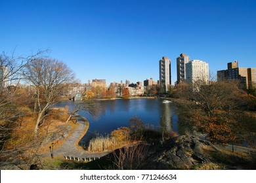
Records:
[[[189,56],[180,54],[177,58],[177,84],[186,80],[186,63],[189,61]]]

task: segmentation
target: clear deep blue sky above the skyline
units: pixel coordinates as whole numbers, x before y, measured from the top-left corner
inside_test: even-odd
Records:
[[[255,0],[0,0],[0,51],[38,49],[64,61],[82,83],[159,78],[159,60],[209,63],[210,72],[256,67]]]

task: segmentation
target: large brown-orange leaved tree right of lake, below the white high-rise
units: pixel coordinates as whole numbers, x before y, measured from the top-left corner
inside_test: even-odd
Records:
[[[246,103],[246,94],[234,82],[211,82],[200,84],[198,90],[181,83],[175,88],[175,96],[182,116],[207,134],[211,142],[239,142],[242,127],[237,120],[237,111]]]

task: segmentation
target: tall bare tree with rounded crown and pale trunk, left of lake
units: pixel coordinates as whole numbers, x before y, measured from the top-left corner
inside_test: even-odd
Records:
[[[35,135],[47,116],[47,111],[62,92],[66,83],[74,80],[74,73],[70,68],[57,59],[42,58],[33,59],[26,65],[26,71],[23,73],[29,84],[32,84],[37,104],[37,120],[35,123]]]

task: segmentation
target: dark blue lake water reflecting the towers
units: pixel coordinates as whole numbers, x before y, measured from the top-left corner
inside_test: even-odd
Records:
[[[80,142],[82,144],[96,133],[105,135],[118,127],[129,126],[129,120],[134,116],[137,116],[144,124],[150,124],[156,129],[165,125],[168,130],[179,134],[179,117],[174,103],[163,103],[163,99],[144,98],[96,102],[100,104],[100,114],[96,118],[92,118],[86,112],[78,112],[90,123],[87,135]],[[56,106],[64,107],[66,105],[71,110],[75,103],[73,101],[61,101]]]

